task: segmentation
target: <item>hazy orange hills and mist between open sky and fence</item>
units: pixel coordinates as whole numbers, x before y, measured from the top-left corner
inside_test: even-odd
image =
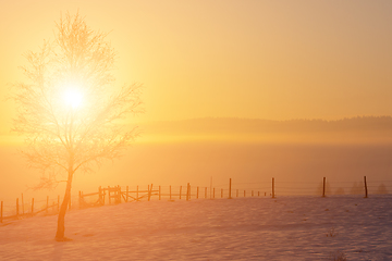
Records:
[[[274,177],[277,185],[284,182],[307,188],[299,194],[316,194],[315,184],[323,176],[334,192],[339,186],[359,183],[365,175],[370,183],[375,182],[373,186],[379,186],[378,181],[390,181],[392,172],[392,119],[389,116],[332,122],[195,119],[139,126],[142,137],[121,159],[105,162],[94,173],[76,173],[73,195],[115,185],[147,187],[148,184],[191,183],[209,187],[211,177],[213,186],[223,188],[230,177],[237,186],[270,183]],[[1,200],[13,202],[21,192],[26,197],[38,194],[42,199],[46,195],[63,194],[62,184],[53,191],[27,189],[38,183],[40,174],[26,167],[16,148],[2,147],[0,153],[2,173],[7,176],[0,183]],[[376,189],[370,188],[369,192]],[[277,194],[282,192],[277,187]],[[348,192],[346,188],[345,194]]]

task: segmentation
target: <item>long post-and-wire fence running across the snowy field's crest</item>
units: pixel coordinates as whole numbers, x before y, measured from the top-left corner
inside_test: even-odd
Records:
[[[392,192],[392,181],[364,181],[356,182],[329,182],[323,177],[320,182],[284,182],[275,181],[259,183],[232,183],[212,186],[114,186],[99,187],[97,192],[71,197],[69,209],[83,209],[117,204],[122,202],[137,202],[143,200],[194,200],[220,199],[240,197],[272,197],[278,196],[322,196],[332,195],[381,195]],[[57,214],[61,204],[61,197],[46,200],[26,200],[17,198],[15,203],[1,201],[0,223],[29,217],[34,215]]]

